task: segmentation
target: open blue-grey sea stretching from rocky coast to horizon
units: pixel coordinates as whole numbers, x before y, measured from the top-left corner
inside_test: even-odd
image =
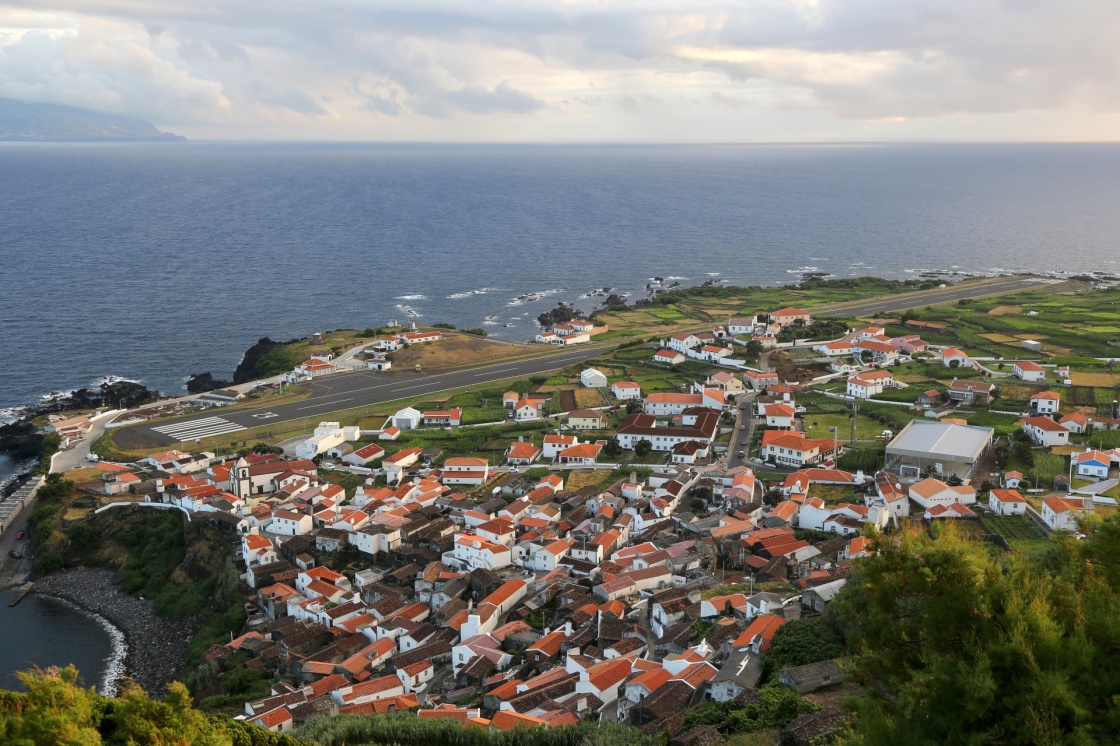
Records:
[[[1120,271],[1120,146],[0,144],[0,408],[650,278]],[[534,293],[528,300],[517,300]]]

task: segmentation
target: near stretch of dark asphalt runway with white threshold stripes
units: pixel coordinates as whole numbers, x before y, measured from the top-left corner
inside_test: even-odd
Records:
[[[311,397],[287,404],[273,404],[255,409],[223,411],[222,408],[184,417],[162,420],[151,425],[130,428],[138,436],[146,436],[153,446],[174,445],[198,438],[209,438],[227,432],[279,425],[289,420],[329,414],[355,407],[381,404],[396,399],[486,384],[505,379],[524,377],[566,367],[573,363],[601,355],[604,348],[579,349],[558,355],[534,357],[525,361],[494,363],[482,367],[450,371],[447,373],[414,373],[401,371],[377,373],[339,373],[314,381]],[[138,432],[139,431],[139,432]],[[131,433],[130,433],[131,435]]]

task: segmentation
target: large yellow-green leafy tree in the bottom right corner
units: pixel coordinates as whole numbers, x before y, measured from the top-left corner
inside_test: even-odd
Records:
[[[1120,520],[1037,559],[945,525],[875,537],[825,619],[856,654],[850,744],[1104,744],[1120,733]]]

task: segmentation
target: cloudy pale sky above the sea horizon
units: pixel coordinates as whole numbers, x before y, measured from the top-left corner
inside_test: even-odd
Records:
[[[1114,140],[1120,0],[0,0],[0,96],[194,138]]]

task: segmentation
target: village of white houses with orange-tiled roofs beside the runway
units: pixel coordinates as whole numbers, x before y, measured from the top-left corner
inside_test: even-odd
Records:
[[[1029,330],[1045,313],[997,317]],[[177,511],[236,537],[245,627],[203,661],[236,656],[272,680],[237,715],[269,730],[414,710],[708,744],[720,731],[685,727],[690,708],[747,708],[774,684],[811,702],[782,743],[820,743],[844,721],[830,694],[844,661],[771,670],[767,655],[783,626],[827,612],[875,537],[953,522],[1034,551],[1120,498],[1120,412],[1111,386],[1084,385],[1111,363],[1079,371],[1028,334],[989,354],[926,316],[838,325],[774,307],[615,337],[548,376],[324,419],[281,445],[207,449],[228,433],[196,429],[96,460],[85,489],[96,512]],[[535,343],[614,328],[575,318]],[[454,336],[385,334],[282,383],[388,375],[400,351]],[[46,427],[65,448],[92,426]]]

